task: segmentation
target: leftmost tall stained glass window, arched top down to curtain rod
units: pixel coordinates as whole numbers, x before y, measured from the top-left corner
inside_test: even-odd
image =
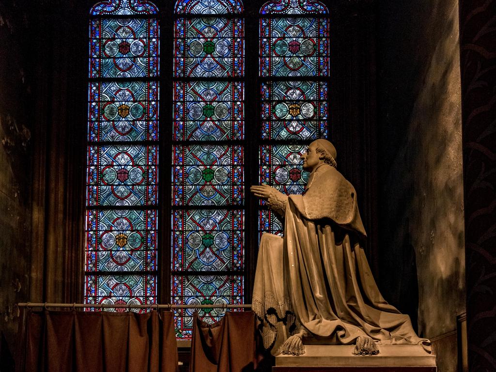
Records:
[[[87,304],[157,301],[156,17],[145,0],[106,0],[91,10]]]

